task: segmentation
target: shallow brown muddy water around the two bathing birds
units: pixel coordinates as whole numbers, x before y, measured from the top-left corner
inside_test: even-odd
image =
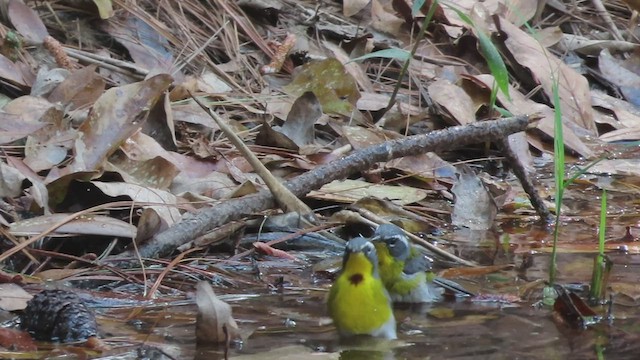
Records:
[[[591,209],[591,215],[597,209]],[[591,276],[597,233],[595,220],[567,217],[562,229],[558,281],[587,285]],[[632,216],[612,216],[608,238],[622,239]],[[508,225],[507,225],[508,224]],[[632,230],[633,231],[633,230]],[[532,224],[508,221],[491,232],[457,231],[449,234],[459,255],[482,265],[511,267],[455,280],[482,294],[505,295],[505,301],[477,302],[448,299],[422,308],[398,308],[399,340],[357,339],[340,342],[325,316],[324,297],[330,280],[315,276],[311,263],[280,260],[261,267],[264,285],[231,291],[234,317],[245,338],[232,343],[229,355],[244,359],[635,359],[640,346],[640,257],[633,242],[620,240],[612,250],[614,262],[611,293],[615,294],[611,324],[575,330],[554,319],[553,312],[538,306],[542,281],[547,278],[551,241],[549,231]],[[627,250],[624,252],[622,250]],[[294,255],[296,255],[294,253]],[[307,254],[297,254],[299,256]],[[266,262],[265,262],[266,264]],[[284,286],[268,286],[275,279]],[[513,297],[506,297],[506,296]],[[515,297],[520,301],[514,301]],[[496,299],[494,299],[496,300]],[[497,299],[499,300],[499,299]],[[508,301],[506,301],[508,300]],[[220,348],[196,348],[195,307],[160,306],[154,309],[103,312],[106,340],[116,345],[145,342],[164,349],[175,358],[215,359]],[[596,308],[604,313],[604,308]],[[106,321],[106,318],[119,319]],[[118,341],[122,341],[119,343]],[[117,344],[122,345],[118,347]]]

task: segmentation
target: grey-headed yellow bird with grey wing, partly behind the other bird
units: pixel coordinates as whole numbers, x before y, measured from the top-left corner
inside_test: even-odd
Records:
[[[380,278],[393,302],[425,303],[440,299],[444,290],[427,279],[431,261],[409,243],[401,228],[382,224],[371,240],[378,254]]]

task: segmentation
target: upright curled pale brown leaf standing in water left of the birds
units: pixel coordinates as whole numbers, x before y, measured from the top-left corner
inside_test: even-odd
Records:
[[[218,299],[206,281],[196,286],[196,338],[199,344],[221,343],[238,333],[238,324],[231,316],[231,306]]]

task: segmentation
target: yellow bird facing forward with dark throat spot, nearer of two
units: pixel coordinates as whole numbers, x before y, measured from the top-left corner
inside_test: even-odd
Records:
[[[397,338],[391,299],[378,274],[376,249],[363,237],[347,242],[342,271],[331,286],[327,305],[341,336]]]

